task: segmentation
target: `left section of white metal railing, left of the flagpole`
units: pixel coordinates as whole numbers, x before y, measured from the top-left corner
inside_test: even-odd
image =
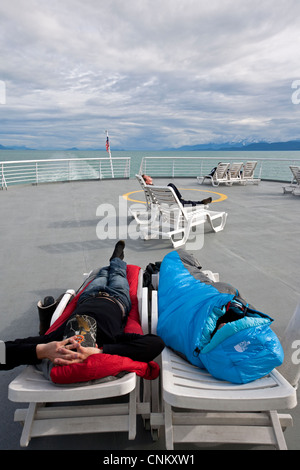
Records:
[[[71,158],[0,162],[1,187],[58,181],[129,178],[130,158]]]

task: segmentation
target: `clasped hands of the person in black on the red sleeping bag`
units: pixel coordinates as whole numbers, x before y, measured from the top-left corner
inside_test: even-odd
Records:
[[[91,354],[99,354],[98,348],[84,348],[75,340],[75,336],[62,341],[38,344],[36,355],[38,359],[49,359],[56,365],[68,365],[83,362]]]

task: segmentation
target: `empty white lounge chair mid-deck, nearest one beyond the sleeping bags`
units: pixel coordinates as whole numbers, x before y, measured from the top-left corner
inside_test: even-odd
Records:
[[[152,201],[159,212],[160,218],[153,218],[152,223],[141,225],[144,239],[162,236],[169,238],[174,248],[183,246],[188,241],[193,227],[208,222],[214,232],[224,229],[227,219],[226,212],[210,211],[204,205],[184,207],[173,188],[169,186],[148,186]],[[219,225],[214,225],[216,219]],[[178,239],[177,236],[180,236]]]

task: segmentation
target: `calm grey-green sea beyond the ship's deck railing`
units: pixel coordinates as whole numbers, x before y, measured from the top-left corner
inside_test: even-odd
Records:
[[[3,161],[20,160],[48,160],[64,158],[107,158],[108,153],[105,150],[0,150],[0,163]],[[300,151],[272,151],[272,152],[250,152],[250,151],[113,151],[112,157],[130,157],[131,158],[131,176],[134,176],[140,168],[143,157],[198,157],[215,158],[217,161],[229,161],[230,159],[259,160],[276,159],[274,163],[277,167],[288,169],[288,164],[300,165]],[[289,175],[289,173],[288,173]],[[288,176],[290,178],[290,175]]]

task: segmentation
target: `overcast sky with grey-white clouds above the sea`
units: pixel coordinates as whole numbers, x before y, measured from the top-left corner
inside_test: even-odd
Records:
[[[0,144],[300,140],[299,39],[299,0],[2,1]]]

